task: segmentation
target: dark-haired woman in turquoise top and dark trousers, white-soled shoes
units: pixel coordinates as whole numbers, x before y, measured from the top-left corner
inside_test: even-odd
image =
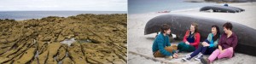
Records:
[[[186,55],[182,60],[189,61],[191,58],[197,55],[197,57],[195,57],[195,60],[199,61],[203,55],[211,55],[218,45],[219,37],[220,37],[219,27],[217,25],[213,25],[212,33],[209,33],[207,39],[201,43],[202,46],[199,47],[198,49],[195,49],[195,51],[192,54]]]

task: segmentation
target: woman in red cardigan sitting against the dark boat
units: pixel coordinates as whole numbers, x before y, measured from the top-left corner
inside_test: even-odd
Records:
[[[177,44],[178,52],[188,51],[192,52],[197,49],[200,43],[200,33],[198,32],[198,25],[192,23],[190,30],[188,30],[183,38],[183,42]]]

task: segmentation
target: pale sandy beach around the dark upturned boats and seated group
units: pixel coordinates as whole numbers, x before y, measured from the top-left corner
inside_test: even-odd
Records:
[[[223,5],[224,3],[219,3]],[[240,23],[245,26],[252,27],[256,30],[256,3],[229,3],[230,6],[245,9],[241,13],[212,13],[212,12],[200,12],[200,8],[196,9],[183,9],[174,10],[171,13],[145,13],[145,14],[131,14],[128,15],[128,63],[129,64],[158,64],[160,61],[166,61],[166,63],[177,63],[177,64],[201,64],[200,61],[190,61],[182,62],[181,58],[184,55],[189,55],[189,53],[178,53],[178,59],[172,59],[171,61],[165,58],[154,58],[152,55],[152,44],[156,33],[144,35],[144,27],[148,20],[154,18],[158,15],[167,14],[181,14],[181,15],[193,15],[207,18],[214,18],[219,20],[229,20],[230,22]],[[221,29],[222,30],[222,29]],[[175,31],[175,30],[172,30]],[[172,43],[177,44],[177,43]],[[130,53],[132,52],[132,53]],[[136,54],[134,54],[136,53]],[[204,57],[207,57],[205,55]],[[158,61],[148,59],[154,58]],[[236,56],[231,59],[221,59],[214,61],[213,64],[253,64],[256,62],[256,56],[245,55],[241,53],[236,53]]]

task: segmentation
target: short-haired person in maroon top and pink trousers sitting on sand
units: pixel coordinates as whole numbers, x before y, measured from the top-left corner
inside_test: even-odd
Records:
[[[203,64],[209,64],[214,61],[217,57],[222,59],[224,57],[231,58],[234,55],[234,49],[238,42],[238,38],[235,32],[232,32],[232,24],[227,22],[223,25],[224,33],[221,35],[218,41],[218,49],[212,52],[212,55],[208,59],[201,58]]]

